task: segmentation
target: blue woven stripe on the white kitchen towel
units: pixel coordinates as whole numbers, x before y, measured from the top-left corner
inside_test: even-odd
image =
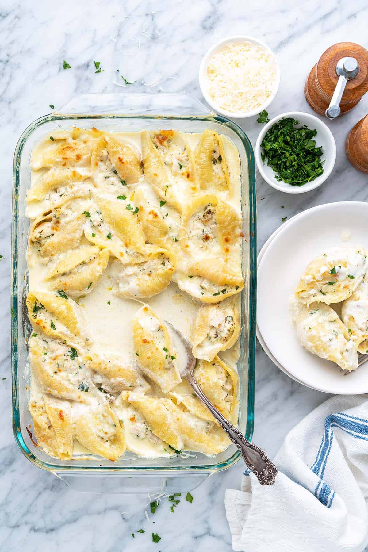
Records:
[[[345,433],[348,433],[356,439],[368,440],[368,420],[349,416],[344,412],[338,412],[337,414],[330,414],[327,416],[324,421],[324,433],[321,444],[319,445],[317,457],[311,466],[313,473],[319,476],[314,496],[318,498],[321,504],[327,506],[327,508],[332,506],[333,499],[336,495],[335,491],[323,481],[324,470],[326,469],[327,460],[332,448],[334,437],[333,427],[342,429]]]

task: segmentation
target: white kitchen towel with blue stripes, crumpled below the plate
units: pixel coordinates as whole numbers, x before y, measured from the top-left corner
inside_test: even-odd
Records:
[[[226,491],[234,550],[364,550],[368,395],[324,402],[287,434],[274,463],[279,470],[274,485],[260,485],[246,470],[241,490]]]

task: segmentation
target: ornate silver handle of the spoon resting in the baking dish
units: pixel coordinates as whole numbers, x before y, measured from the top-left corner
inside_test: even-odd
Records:
[[[253,443],[250,443],[242,433],[233,426],[231,422],[226,420],[217,408],[207,399],[204,392],[196,382],[193,375],[188,376],[188,381],[191,388],[195,391],[199,399],[206,405],[211,412],[212,416],[216,418],[218,423],[221,424],[223,431],[225,431],[230,438],[231,442],[237,446],[242,453],[244,462],[247,464],[250,471],[253,471],[261,485],[273,485],[276,479],[278,470],[276,466],[267,458],[265,452],[256,447]]]

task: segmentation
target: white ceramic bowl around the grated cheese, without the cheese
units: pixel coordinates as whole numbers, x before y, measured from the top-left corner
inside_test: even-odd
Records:
[[[257,40],[255,38],[253,38],[252,36],[246,36],[246,35],[229,36],[228,38],[220,40],[219,42],[214,44],[214,46],[212,46],[206,52],[206,54],[204,55],[204,57],[202,59],[200,68],[199,68],[199,86],[200,86],[201,92],[202,92],[203,97],[205,98],[207,104],[209,104],[210,107],[216,113],[219,113],[220,115],[224,115],[225,117],[229,117],[231,119],[244,119],[244,118],[247,118],[247,117],[254,117],[254,115],[258,115],[260,112],[262,112],[264,109],[266,109],[266,107],[268,107],[270,105],[270,103],[274,99],[276,93],[278,92],[278,89],[279,89],[279,86],[280,86],[280,68],[279,68],[279,64],[278,64],[278,61],[276,60],[276,56],[275,56],[276,83],[275,83],[274,93],[271,94],[268,97],[268,99],[266,100],[266,102],[264,102],[262,105],[260,105],[257,109],[252,109],[251,111],[246,111],[246,112],[236,112],[236,113],[234,113],[234,112],[231,112],[231,111],[227,111],[225,109],[221,109],[217,104],[214,103],[214,100],[211,98],[211,96],[207,92],[206,70],[207,70],[207,65],[209,64],[210,58],[211,58],[212,54],[214,54],[218,50],[221,50],[223,48],[223,46],[225,46],[225,44],[227,44],[227,43],[230,43],[230,42],[237,43],[237,42],[245,42],[245,41],[251,42],[253,44],[258,44],[259,46],[263,46],[265,50],[268,50],[269,52],[271,52],[271,54],[273,54],[275,56],[274,52],[266,44],[264,44],[260,40]]]

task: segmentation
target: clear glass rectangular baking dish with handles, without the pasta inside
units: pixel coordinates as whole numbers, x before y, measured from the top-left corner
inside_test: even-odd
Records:
[[[30,154],[45,134],[70,126],[108,131],[175,129],[202,132],[206,128],[230,138],[241,158],[243,247],[242,263],[246,285],[242,291],[239,428],[252,438],[254,415],[254,352],[256,298],[256,204],[255,169],[252,145],[243,130],[232,121],[209,112],[199,100],[184,94],[82,94],[61,110],[31,124],[15,148],[12,221],[12,371],[13,431],[26,458],[51,471],[68,485],[90,492],[168,492],[194,489],[217,471],[229,468],[240,458],[230,445],[215,457],[191,453],[187,458],[146,459],[125,453],[118,461],[90,454],[89,459],[57,460],[45,454],[32,438],[28,410],[30,372],[26,337],[30,325],[25,308],[28,276],[25,259],[29,220],[25,217],[25,194],[30,186]]]

